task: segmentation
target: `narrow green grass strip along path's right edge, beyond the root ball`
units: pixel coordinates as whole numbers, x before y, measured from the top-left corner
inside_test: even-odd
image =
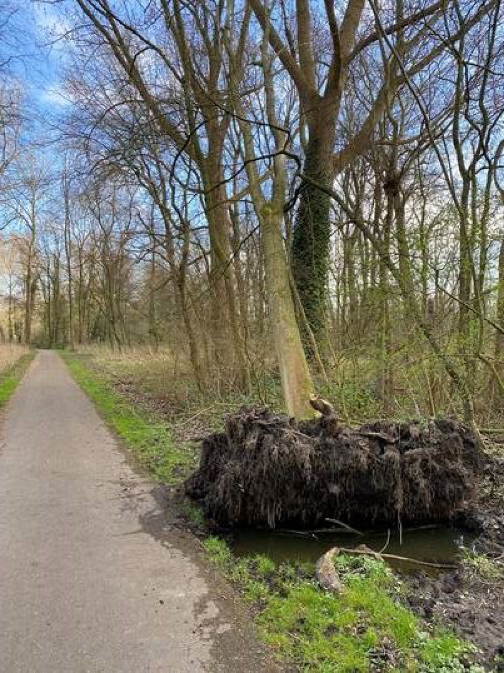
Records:
[[[174,441],[170,427],[152,413],[133,406],[116,392],[110,382],[82,359],[61,354],[73,378],[96,404],[106,423],[133,451],[156,478],[166,484],[180,483],[196,464],[196,451],[181,441]]]

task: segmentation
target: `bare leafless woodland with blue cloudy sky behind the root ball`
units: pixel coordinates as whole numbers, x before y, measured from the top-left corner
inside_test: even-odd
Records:
[[[173,409],[501,427],[503,15],[3,3],[1,339]]]

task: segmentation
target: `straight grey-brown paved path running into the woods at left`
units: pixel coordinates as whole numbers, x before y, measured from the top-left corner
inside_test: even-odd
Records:
[[[56,353],[0,446],[0,672],[273,670]]]

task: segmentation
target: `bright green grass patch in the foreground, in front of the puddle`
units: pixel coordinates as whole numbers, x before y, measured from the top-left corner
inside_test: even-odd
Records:
[[[345,588],[334,595],[320,590],[310,565],[277,565],[264,556],[237,559],[215,536],[204,546],[258,609],[262,639],[303,671],[481,670],[463,662],[472,646],[444,629],[427,629],[401,601],[402,588],[382,561],[336,557]]]

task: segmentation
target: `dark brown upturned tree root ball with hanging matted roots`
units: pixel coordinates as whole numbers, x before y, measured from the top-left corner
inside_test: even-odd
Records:
[[[482,462],[456,421],[351,429],[244,409],[203,440],[186,492],[222,526],[440,521],[463,509]]]

